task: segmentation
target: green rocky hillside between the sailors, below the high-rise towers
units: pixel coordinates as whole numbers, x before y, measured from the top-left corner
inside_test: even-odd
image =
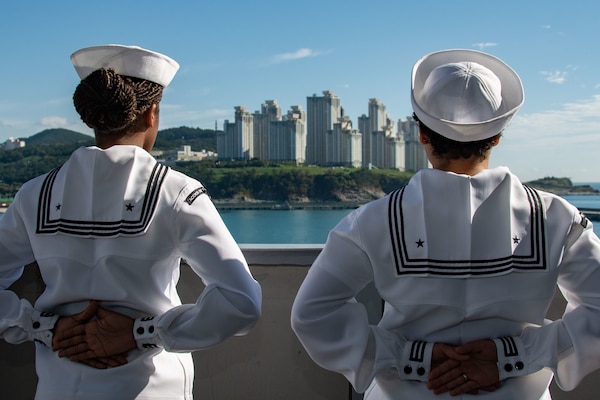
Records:
[[[412,173],[392,169],[308,167],[268,162],[177,163],[214,200],[346,202],[362,204],[408,182]]]

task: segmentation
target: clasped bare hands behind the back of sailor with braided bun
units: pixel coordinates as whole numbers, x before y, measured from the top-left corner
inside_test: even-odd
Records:
[[[95,300],[79,314],[58,319],[54,325],[52,351],[59,357],[106,369],[127,363],[127,353],[137,347],[134,320],[107,310]]]

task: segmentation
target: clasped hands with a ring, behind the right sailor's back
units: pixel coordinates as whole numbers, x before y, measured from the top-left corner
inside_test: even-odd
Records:
[[[451,396],[493,392],[500,387],[496,344],[477,340],[461,346],[436,343],[427,388]]]

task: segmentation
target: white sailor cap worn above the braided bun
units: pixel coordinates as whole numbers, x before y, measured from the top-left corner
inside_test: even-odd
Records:
[[[138,46],[109,44],[86,47],[71,55],[81,79],[100,69],[113,69],[119,75],[146,79],[166,87],[179,69],[177,61],[164,54]]]

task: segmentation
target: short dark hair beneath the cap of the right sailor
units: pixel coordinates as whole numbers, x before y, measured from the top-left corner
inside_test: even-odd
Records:
[[[427,136],[427,139],[429,139],[433,154],[446,160],[466,159],[473,156],[483,160],[485,159],[487,152],[492,148],[493,143],[502,136],[502,133],[498,133],[497,135],[483,140],[459,142],[434,132],[431,128],[421,122],[414,113],[413,119],[419,123],[419,130]]]

